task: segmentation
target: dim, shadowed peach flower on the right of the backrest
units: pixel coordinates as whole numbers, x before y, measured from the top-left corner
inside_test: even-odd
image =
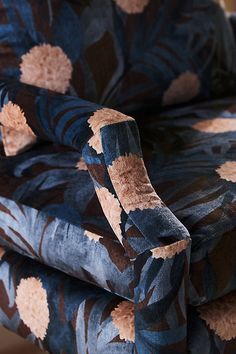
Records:
[[[196,74],[189,71],[181,74],[164,93],[163,105],[174,105],[188,102],[196,97],[200,92],[201,83]]]

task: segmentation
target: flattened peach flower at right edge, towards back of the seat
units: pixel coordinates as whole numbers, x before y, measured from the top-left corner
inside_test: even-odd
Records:
[[[202,133],[227,133],[236,131],[236,118],[213,118],[200,121],[193,125]]]

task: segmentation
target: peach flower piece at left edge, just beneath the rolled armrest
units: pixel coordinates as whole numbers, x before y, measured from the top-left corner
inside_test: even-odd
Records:
[[[7,127],[1,127],[1,133],[6,156],[15,156],[37,141],[34,134],[24,134],[24,132]]]

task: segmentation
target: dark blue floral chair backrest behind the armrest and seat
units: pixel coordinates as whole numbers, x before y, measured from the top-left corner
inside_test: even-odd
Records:
[[[230,93],[235,59],[232,28],[216,0],[0,5],[2,74],[129,114]]]

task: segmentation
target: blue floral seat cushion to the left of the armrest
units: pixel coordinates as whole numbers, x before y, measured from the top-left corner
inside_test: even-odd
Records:
[[[0,164],[0,244],[132,299],[132,262],[80,154],[41,142]]]

